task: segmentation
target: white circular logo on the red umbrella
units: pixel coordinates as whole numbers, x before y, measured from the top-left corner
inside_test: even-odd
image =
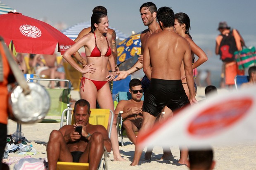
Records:
[[[23,35],[32,38],[38,38],[42,34],[39,28],[32,25],[21,25],[19,30]]]

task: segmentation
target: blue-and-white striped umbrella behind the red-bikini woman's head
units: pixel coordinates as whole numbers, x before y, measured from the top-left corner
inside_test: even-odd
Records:
[[[67,28],[66,30],[62,30],[62,33],[65,34],[67,37],[71,38],[72,40],[75,40],[81,30],[83,30],[84,28],[88,28],[90,26],[91,26],[91,21],[86,21],[86,22],[73,25]],[[116,31],[116,39],[119,39],[120,41],[123,41],[128,37],[126,34],[123,34],[123,32],[116,30],[116,28],[113,28],[113,27],[109,27],[109,28]]]

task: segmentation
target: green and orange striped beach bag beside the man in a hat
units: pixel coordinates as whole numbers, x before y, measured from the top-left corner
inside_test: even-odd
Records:
[[[254,46],[250,48],[245,47],[241,51],[235,51],[234,54],[239,70],[256,65],[256,51]]]

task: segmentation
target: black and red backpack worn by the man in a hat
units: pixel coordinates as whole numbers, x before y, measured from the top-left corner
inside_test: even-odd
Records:
[[[232,62],[235,61],[234,52],[237,51],[237,44],[233,36],[233,30],[230,30],[228,35],[221,34],[222,40],[220,42],[220,59],[223,62]]]

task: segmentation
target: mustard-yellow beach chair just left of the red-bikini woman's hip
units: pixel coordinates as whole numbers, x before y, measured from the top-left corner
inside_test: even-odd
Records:
[[[63,67],[65,70],[66,79],[71,81],[73,90],[79,91],[80,78],[82,77],[83,74],[81,72],[77,71],[68,62],[63,62]]]

